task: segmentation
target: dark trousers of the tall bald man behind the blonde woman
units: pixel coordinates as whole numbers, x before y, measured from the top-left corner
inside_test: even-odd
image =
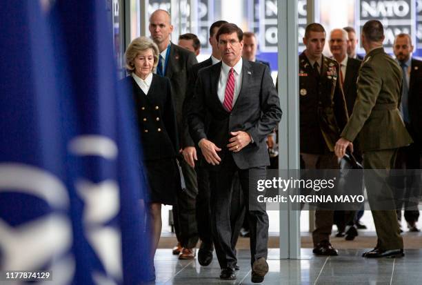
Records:
[[[174,230],[177,241],[184,248],[193,248],[198,242],[196,199],[198,194],[197,173],[184,159],[179,159],[186,190],[177,193],[177,204],[173,206]]]

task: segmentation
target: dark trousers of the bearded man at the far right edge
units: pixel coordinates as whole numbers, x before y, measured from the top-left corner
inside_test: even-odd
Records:
[[[406,222],[417,222],[419,219],[419,195],[421,194],[419,170],[421,168],[421,150],[416,144],[399,148],[395,168],[403,170],[402,175],[397,175],[394,179],[397,217],[401,220],[401,209],[404,206]]]

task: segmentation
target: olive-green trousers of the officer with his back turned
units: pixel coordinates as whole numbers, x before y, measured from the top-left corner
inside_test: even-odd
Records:
[[[381,250],[403,248],[403,238],[400,236],[399,223],[394,210],[393,193],[387,183],[388,170],[394,168],[396,153],[396,149],[372,150],[363,153],[363,167],[370,170],[364,171],[364,180],[378,237],[376,248]]]

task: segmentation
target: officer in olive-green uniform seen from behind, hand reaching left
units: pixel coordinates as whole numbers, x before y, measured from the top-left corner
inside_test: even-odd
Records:
[[[343,157],[346,148],[352,149],[352,141],[358,137],[363,166],[371,169],[365,171],[365,186],[378,241],[363,257],[404,256],[392,190],[388,184],[381,183],[385,182],[388,170],[394,167],[397,149],[407,146],[412,139],[398,109],[403,78],[401,68],[384,52],[383,40],[381,22],[366,22],[361,34],[366,56],[359,70],[356,102],[350,121],[335,146],[336,155]],[[382,210],[377,204],[379,201],[384,202]]]

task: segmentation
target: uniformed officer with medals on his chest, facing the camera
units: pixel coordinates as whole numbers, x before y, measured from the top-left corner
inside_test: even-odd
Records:
[[[339,83],[339,63],[322,55],[325,30],[319,23],[305,29],[306,50],[299,55],[301,159],[305,169],[338,169],[334,144],[348,122]],[[332,210],[316,210],[313,253],[337,255],[330,244]]]

